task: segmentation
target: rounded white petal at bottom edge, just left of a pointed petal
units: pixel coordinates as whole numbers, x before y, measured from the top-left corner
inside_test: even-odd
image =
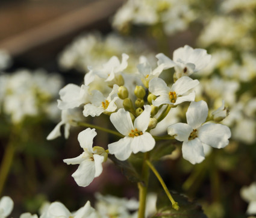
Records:
[[[60,202],[53,202],[48,208],[47,215],[48,216],[45,216],[47,218],[69,217],[71,213]]]

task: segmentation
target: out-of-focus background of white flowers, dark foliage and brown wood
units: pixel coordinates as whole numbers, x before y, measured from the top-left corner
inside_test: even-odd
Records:
[[[136,182],[111,162],[88,187],[73,181],[77,166],[63,159],[81,154],[77,135],[83,128],[72,128],[68,139],[46,140],[61,120],[58,91],[68,83],[80,86],[87,66],[113,55],[130,55],[127,70],[133,73],[140,55],[155,67],[155,54],[172,58],[184,45],[212,55],[210,66],[193,75],[201,82],[196,101],[204,99],[213,111],[224,99],[229,116],[222,123],[233,136],[201,164],[184,160],[177,143],[155,166],[170,190],[198,201],[208,217],[246,217],[248,202],[240,190],[256,179],[254,0],[2,0],[0,20],[0,196],[13,199],[13,217],[37,213],[45,201],[77,210],[87,200],[93,204],[96,192],[137,198]],[[172,81],[170,73],[163,76]],[[173,115],[176,120],[186,121],[187,107]],[[105,116],[87,118],[102,121],[111,126]],[[115,140],[98,134],[95,146],[107,148]],[[149,191],[161,190],[154,175],[149,181]]]

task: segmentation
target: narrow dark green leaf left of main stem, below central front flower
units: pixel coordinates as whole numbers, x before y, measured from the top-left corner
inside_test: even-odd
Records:
[[[108,154],[108,158],[110,158],[110,160],[113,161],[113,163],[121,169],[123,175],[125,175],[126,178],[131,182],[142,182],[142,179],[140,178],[136,169],[134,169],[129,161],[120,161],[111,154]]]

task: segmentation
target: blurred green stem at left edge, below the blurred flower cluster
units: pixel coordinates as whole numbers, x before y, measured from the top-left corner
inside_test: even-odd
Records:
[[[0,168],[0,196],[4,188],[4,184],[7,179],[7,176],[10,172],[14,152],[15,152],[15,148],[13,144],[11,142],[8,143],[7,148],[5,149],[5,152],[4,152],[4,157],[2,158],[2,163]]]

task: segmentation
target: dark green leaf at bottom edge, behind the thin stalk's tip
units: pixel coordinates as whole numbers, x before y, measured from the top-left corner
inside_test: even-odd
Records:
[[[207,218],[202,210],[201,205],[194,201],[189,201],[186,196],[170,192],[173,199],[178,202],[180,210],[174,210],[170,200],[167,198],[164,192],[161,192],[157,196],[157,213],[153,216],[156,217],[195,217],[195,218]]]

